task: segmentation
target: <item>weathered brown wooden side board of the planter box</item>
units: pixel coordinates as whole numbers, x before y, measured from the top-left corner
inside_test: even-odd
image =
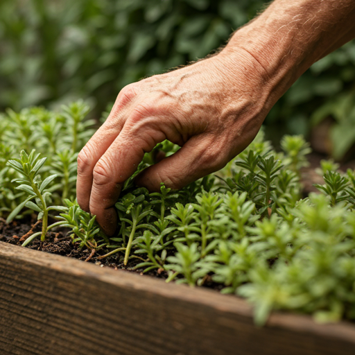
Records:
[[[355,326],[0,243],[0,354],[355,354]]]

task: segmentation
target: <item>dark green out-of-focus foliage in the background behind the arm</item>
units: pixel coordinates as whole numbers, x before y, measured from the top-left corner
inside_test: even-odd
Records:
[[[263,0],[1,0],[0,110],[53,107],[83,97],[101,112],[124,85],[203,58],[225,44],[232,31],[265,4]],[[340,112],[338,101],[354,93],[354,79],[355,42],[351,42],[314,64],[275,105],[267,125],[277,125],[280,135],[306,133],[316,110],[318,121],[336,110],[337,125],[344,125],[351,109]],[[329,98],[335,109],[322,108],[329,105]],[[332,138],[338,139],[344,130],[347,127]],[[355,137],[347,141],[337,156]]]

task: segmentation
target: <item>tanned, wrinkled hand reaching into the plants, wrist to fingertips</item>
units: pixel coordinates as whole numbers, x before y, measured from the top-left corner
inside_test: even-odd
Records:
[[[164,139],[182,148],[136,179],[149,191],[180,189],[223,168],[250,144],[279,96],[248,51],[224,50],[123,88],[110,116],[78,156],[80,207],[116,230],[114,204],[144,153]]]

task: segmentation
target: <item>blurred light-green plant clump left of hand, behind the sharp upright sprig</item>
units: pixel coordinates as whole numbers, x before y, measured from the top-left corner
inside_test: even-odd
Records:
[[[19,209],[26,200],[25,191],[15,189],[16,185],[12,183],[14,179],[23,178],[20,171],[16,171],[14,166],[6,166],[6,162],[17,158],[21,150],[30,155],[35,149],[37,153],[46,155],[40,175],[42,180],[55,175],[47,188],[54,205],[62,205],[65,198],[76,195],[76,157],[94,133],[94,121],[86,119],[87,110],[88,106],[83,101],[77,101],[58,112],[33,107],[21,112],[8,110],[1,116],[0,216]],[[76,147],[73,146],[74,141]],[[25,154],[22,157],[26,159]],[[18,212],[21,212],[18,216],[15,214],[18,218],[31,213],[21,208]]]

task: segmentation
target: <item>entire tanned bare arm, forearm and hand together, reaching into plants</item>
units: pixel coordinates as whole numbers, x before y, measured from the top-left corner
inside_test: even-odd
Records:
[[[295,80],[354,37],[355,0],[275,0],[218,54],[124,87],[78,156],[80,207],[114,234],[123,182],[164,139],[182,148],[139,175],[149,191],[223,168]]]

